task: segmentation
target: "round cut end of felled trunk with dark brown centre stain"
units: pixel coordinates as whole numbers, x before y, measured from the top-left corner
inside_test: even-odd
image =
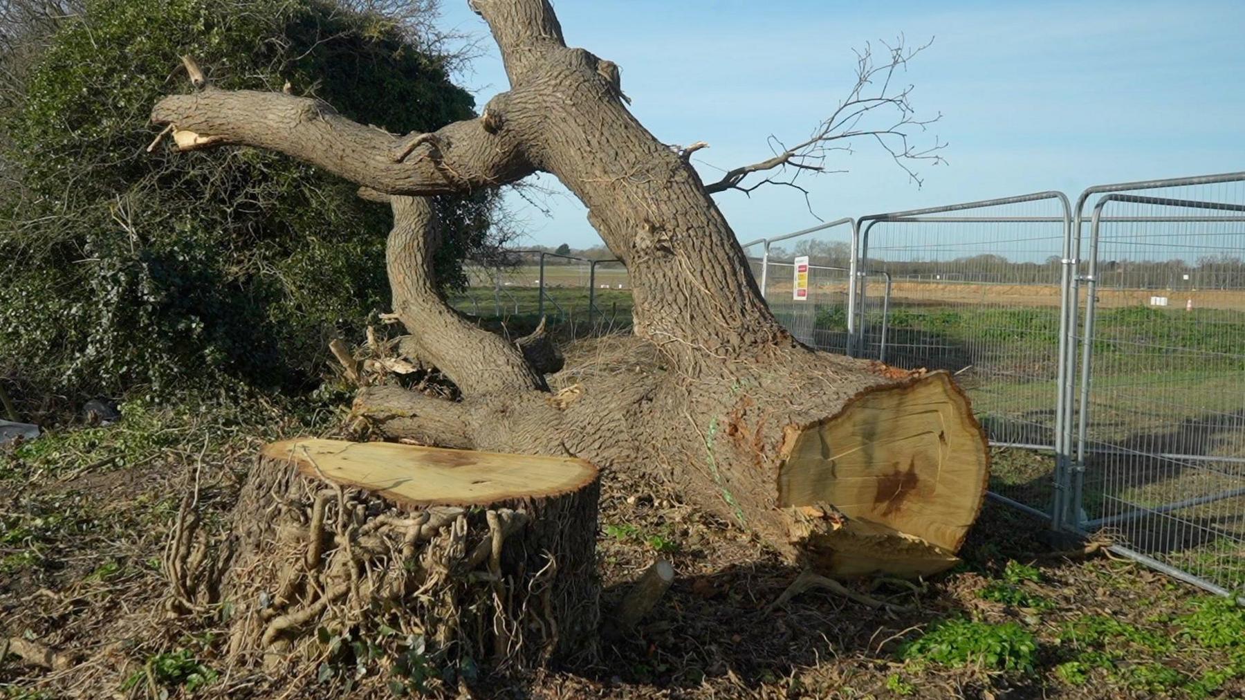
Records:
[[[964,392],[945,372],[870,391],[835,416],[787,432],[778,502],[813,518],[818,567],[835,575],[928,575],[955,553],[981,509],[990,455]]]

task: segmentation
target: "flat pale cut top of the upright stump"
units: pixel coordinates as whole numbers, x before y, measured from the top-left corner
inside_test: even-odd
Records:
[[[308,477],[355,486],[410,507],[487,506],[543,498],[578,491],[596,478],[596,467],[573,457],[393,442],[285,440],[265,446],[263,455],[290,460]]]

